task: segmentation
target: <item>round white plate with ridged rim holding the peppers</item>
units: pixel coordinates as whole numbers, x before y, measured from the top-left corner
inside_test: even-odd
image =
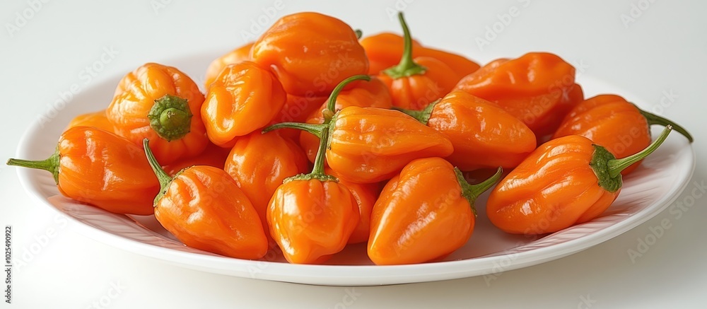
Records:
[[[201,83],[203,71],[217,54],[197,55],[164,62],[182,69]],[[126,69],[126,71],[132,68]],[[83,112],[101,110],[110,103],[121,76],[78,93],[51,122],[35,122],[17,151],[18,158],[44,159],[54,152],[57,140],[69,120]],[[587,96],[619,93],[641,105],[640,100],[587,76],[579,82]],[[679,119],[676,119],[679,120]],[[660,128],[653,129],[653,134]],[[66,214],[80,233],[129,252],[153,257],[170,264],[205,272],[301,284],[334,286],[404,284],[422,281],[493,275],[571,255],[629,231],[669,206],[689,182],[694,170],[694,151],[683,136],[673,132],[641,168],[624,179],[616,202],[593,221],[545,235],[542,238],[508,235],[486,218],[486,194],[477,202],[479,217],[469,242],[443,262],[401,266],[375,266],[366,257],[364,245],[347,247],[326,265],[297,265],[281,256],[262,261],[238,260],[185,247],[167,233],[154,217],[121,216],[62,197],[52,176],[41,170],[18,168],[25,190],[38,202]]]

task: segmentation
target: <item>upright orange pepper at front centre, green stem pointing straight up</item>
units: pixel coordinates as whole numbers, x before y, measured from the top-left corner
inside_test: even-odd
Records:
[[[359,221],[354,195],[324,172],[328,135],[323,129],[312,173],[284,180],[269,202],[270,235],[291,263],[324,262],[344,249]]]

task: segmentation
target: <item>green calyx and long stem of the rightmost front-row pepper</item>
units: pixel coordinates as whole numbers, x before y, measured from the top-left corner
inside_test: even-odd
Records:
[[[658,138],[648,145],[648,147],[632,156],[621,159],[617,159],[607,148],[596,144],[593,145],[594,154],[592,154],[592,160],[589,165],[592,167],[592,170],[594,170],[594,174],[597,175],[599,186],[608,192],[617,192],[621,189],[621,185],[623,185],[621,170],[628,168],[631,164],[641,161],[643,158],[650,155],[650,153],[653,153],[653,151],[658,149],[660,144],[667,139],[671,131],[672,125],[667,124]]]

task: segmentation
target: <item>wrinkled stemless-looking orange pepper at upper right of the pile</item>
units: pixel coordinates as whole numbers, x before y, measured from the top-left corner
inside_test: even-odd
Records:
[[[560,57],[530,52],[486,64],[462,78],[454,90],[498,104],[540,139],[553,134],[569,110],[584,99],[574,78],[575,68]]]

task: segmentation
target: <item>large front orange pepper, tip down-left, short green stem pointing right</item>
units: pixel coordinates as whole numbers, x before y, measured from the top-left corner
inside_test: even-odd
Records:
[[[459,249],[474,231],[474,201],[501,178],[502,170],[472,186],[443,158],[410,162],[373,206],[368,257],[378,265],[415,264]]]

